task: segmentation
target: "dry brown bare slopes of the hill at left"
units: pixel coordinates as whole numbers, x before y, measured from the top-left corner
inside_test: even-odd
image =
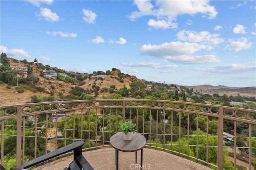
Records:
[[[10,63],[13,63],[13,59],[9,59]],[[15,65],[21,65],[25,66],[26,64],[22,62],[15,63]],[[69,91],[71,90],[71,87],[76,87],[77,85],[63,82],[59,80],[53,80],[53,79],[46,79],[42,76],[40,76],[40,73],[42,72],[42,69],[38,67],[36,63],[31,63],[33,67],[33,74],[35,76],[39,77],[39,82],[36,84],[36,86],[44,88],[44,92],[32,92],[31,90],[25,90],[23,93],[16,92],[15,88],[16,86],[8,86],[5,83],[1,83],[0,86],[0,105],[13,105],[13,104],[25,104],[27,102],[31,101],[31,96],[50,96],[50,94],[54,94],[54,96],[57,98],[59,92],[63,92],[64,95],[69,95]],[[76,73],[81,74],[81,73]],[[117,76],[122,74],[122,80],[123,82],[120,82],[117,80]],[[89,76],[89,74],[82,74],[83,76]],[[128,74],[123,74],[120,72],[120,70],[115,69],[110,72],[110,75],[107,75],[104,80],[97,80],[96,78],[87,78],[84,80],[84,85],[79,86],[84,89],[92,89],[92,85],[99,86],[100,89],[107,87],[110,88],[110,86],[114,85],[116,86],[116,91],[119,90],[121,87],[126,86],[127,88],[130,88],[130,83],[136,80],[139,80],[136,78],[136,76],[130,76]],[[20,86],[26,86],[21,84]],[[10,88],[10,89],[9,89]],[[99,95],[97,96],[97,99],[101,99],[103,95],[108,95],[109,92],[103,92],[101,93],[99,91]]]

